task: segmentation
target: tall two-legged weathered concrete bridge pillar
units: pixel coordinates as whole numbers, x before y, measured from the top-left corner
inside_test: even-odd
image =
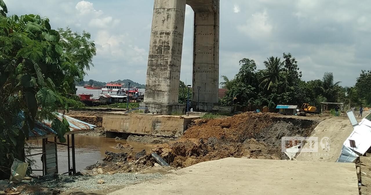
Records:
[[[193,102],[198,100],[198,86],[201,109],[211,111],[218,102],[219,0],[155,0],[144,96],[150,112],[185,109],[178,104],[185,4],[195,11]]]

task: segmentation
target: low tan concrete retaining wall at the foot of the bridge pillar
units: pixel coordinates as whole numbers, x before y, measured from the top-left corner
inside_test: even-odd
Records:
[[[106,112],[103,115],[102,127],[108,132],[179,137],[183,135],[187,125],[197,118],[199,117]]]

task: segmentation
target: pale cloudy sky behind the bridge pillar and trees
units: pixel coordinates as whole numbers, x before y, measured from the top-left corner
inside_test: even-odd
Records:
[[[47,16],[53,28],[87,30],[96,42],[86,79],[145,83],[153,0],[4,0],[10,14]],[[333,72],[354,85],[370,69],[371,2],[360,0],[220,0],[220,75],[232,78],[239,60],[258,69],[269,56],[290,52],[304,80]],[[191,83],[193,11],[187,6],[181,80]]]

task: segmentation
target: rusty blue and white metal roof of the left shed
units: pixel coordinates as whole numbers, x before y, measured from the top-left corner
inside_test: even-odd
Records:
[[[20,119],[24,118],[24,116],[20,116]],[[96,126],[91,125],[89,123],[83,122],[78,119],[74,119],[72,117],[63,115],[58,113],[56,117],[62,121],[65,118],[69,123],[70,131],[67,132],[65,135],[75,134],[75,133],[83,133],[94,129]],[[45,120],[44,122],[35,122],[35,127],[32,131],[29,131],[29,139],[38,139],[38,138],[51,138],[56,136],[55,130],[52,129],[52,122],[49,120]]]

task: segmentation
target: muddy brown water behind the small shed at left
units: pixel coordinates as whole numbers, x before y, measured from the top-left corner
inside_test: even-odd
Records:
[[[49,139],[49,141],[53,141]],[[39,145],[37,145],[39,142]],[[42,147],[42,141],[30,141],[30,144],[33,147]],[[67,143],[67,142],[66,142]],[[139,143],[139,142],[130,142],[126,140],[116,140],[113,138],[105,138],[98,136],[86,136],[86,135],[75,135],[75,156],[76,156],[76,171],[86,172],[85,167],[88,165],[95,164],[98,162],[103,162],[102,159],[105,157],[105,152],[128,152],[131,151],[124,149],[119,150],[115,149],[114,146],[117,143],[129,143],[133,147],[132,152],[140,152],[143,149],[150,151],[155,148],[156,145]],[[42,149],[33,149],[31,153],[40,153]],[[72,150],[70,150],[72,155]],[[40,161],[41,155],[32,156],[36,160],[36,166],[33,169],[42,169],[42,162]],[[71,166],[72,166],[72,157],[71,157]],[[59,173],[64,173],[68,171],[68,153],[67,146],[58,145],[58,170]],[[34,171],[34,174],[41,175],[42,172]]]

